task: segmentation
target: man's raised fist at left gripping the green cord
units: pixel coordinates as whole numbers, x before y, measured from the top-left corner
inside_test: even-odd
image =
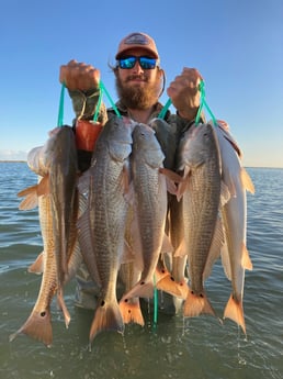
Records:
[[[100,70],[72,59],[60,67],[59,80],[69,90],[88,91],[99,87]]]

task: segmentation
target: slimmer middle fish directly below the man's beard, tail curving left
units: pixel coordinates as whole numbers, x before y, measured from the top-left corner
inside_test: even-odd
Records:
[[[166,178],[159,172],[163,158],[155,132],[148,125],[137,124],[133,132],[131,164],[144,268],[140,280],[122,301],[133,297],[148,298],[154,293],[154,274],[162,246],[167,214]]]

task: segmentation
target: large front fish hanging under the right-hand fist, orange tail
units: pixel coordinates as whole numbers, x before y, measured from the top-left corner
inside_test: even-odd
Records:
[[[184,315],[215,314],[203,287],[220,199],[220,165],[213,126],[202,124],[186,132],[180,144],[180,169],[186,176],[183,190],[184,242],[189,260],[190,290]]]

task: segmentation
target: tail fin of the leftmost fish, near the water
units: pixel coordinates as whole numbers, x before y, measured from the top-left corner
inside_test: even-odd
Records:
[[[10,335],[9,341],[12,342],[19,334],[22,333],[44,343],[47,347],[49,347],[53,342],[50,310],[47,309],[41,313],[32,312],[22,327]]]

